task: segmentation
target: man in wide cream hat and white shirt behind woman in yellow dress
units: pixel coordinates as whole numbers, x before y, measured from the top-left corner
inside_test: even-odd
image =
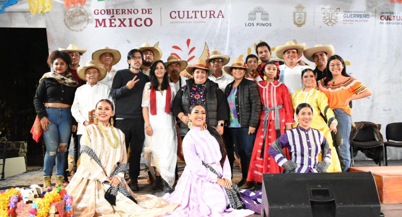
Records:
[[[279,65],[279,81],[287,86],[290,94],[301,89],[303,85],[301,83],[301,71],[310,68],[307,65],[300,66],[297,63],[297,59],[305,47],[306,43],[296,44],[293,41],[288,41],[285,45],[277,46],[275,49],[275,55],[277,57],[283,56],[285,59],[285,64]]]

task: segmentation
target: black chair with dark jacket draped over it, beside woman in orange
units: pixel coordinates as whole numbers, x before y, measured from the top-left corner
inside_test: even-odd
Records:
[[[384,160],[384,166],[386,166],[385,146],[382,141],[375,140],[373,127],[363,127],[357,132],[355,139],[351,141],[351,160],[352,166],[355,166],[355,162],[353,160],[353,146],[361,148],[373,148],[382,146],[382,156]],[[378,166],[381,166],[381,151],[378,152]]]

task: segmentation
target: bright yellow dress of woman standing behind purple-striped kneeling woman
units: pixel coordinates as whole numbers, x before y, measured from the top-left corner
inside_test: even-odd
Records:
[[[313,121],[311,122],[310,127],[318,129],[324,133],[331,149],[332,164],[328,167],[327,172],[341,172],[342,170],[340,169],[339,158],[336,149],[334,148],[331,132],[329,131],[327,123],[325,123],[320,115],[320,113],[324,114],[328,121],[332,119],[336,121],[334,112],[328,106],[328,98],[323,92],[315,88],[312,88],[309,92],[304,92],[303,89],[297,90],[291,95],[291,97],[293,109],[295,111],[300,103],[308,103],[311,105],[313,108]],[[293,125],[293,127],[297,124],[298,123]],[[318,157],[318,159],[321,159],[321,157]]]

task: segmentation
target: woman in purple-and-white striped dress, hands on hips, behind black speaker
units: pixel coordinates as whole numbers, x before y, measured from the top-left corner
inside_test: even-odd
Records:
[[[310,104],[299,104],[296,108],[296,117],[299,119],[299,125],[287,130],[275,140],[268,149],[268,154],[275,158],[279,166],[285,168],[285,173],[326,172],[332,162],[331,149],[324,133],[310,128],[313,119]],[[282,150],[284,147],[289,150],[290,160],[285,158]],[[322,161],[318,162],[318,155],[321,152]]]

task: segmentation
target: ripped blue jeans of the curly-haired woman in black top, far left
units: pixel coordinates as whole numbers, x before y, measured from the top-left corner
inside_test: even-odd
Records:
[[[67,143],[71,136],[73,117],[70,109],[45,107],[49,129],[43,132],[46,145],[43,176],[51,176],[56,163],[56,175],[64,176],[67,162]]]

